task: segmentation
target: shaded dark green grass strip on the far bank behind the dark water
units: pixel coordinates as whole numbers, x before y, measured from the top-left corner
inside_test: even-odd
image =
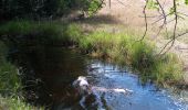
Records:
[[[10,21],[0,25],[0,36],[23,45],[70,45],[81,35],[75,24],[35,21]]]

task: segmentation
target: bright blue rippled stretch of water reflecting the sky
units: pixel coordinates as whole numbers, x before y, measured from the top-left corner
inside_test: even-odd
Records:
[[[178,95],[158,90],[150,84],[142,86],[136,75],[119,70],[117,66],[94,61],[91,67],[97,68],[88,73],[95,76],[93,80],[97,80],[91,81],[91,85],[121,91],[133,90],[129,95],[96,90],[96,96],[103,95],[105,105],[113,110],[188,110],[186,98],[177,98]]]

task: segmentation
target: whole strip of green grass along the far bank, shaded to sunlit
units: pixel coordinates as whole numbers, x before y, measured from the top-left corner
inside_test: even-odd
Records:
[[[0,35],[17,37],[17,45],[76,45],[86,54],[128,66],[139,73],[143,82],[153,80],[164,85],[182,78],[182,65],[176,55],[156,56],[155,44],[148,40],[136,42],[139,38],[132,32],[84,33],[74,23],[12,21],[0,26]]]

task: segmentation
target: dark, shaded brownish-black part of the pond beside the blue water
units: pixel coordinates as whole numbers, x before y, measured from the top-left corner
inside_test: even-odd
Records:
[[[53,109],[76,105],[79,97],[71,84],[86,74],[86,64],[80,54],[48,46],[23,47],[15,54],[12,57],[18,59],[14,62],[23,73],[22,81],[29,102],[55,107]]]

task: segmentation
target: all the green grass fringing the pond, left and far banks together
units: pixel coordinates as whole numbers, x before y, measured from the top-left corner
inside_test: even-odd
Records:
[[[20,98],[22,88],[18,68],[7,61],[8,50],[25,45],[75,45],[84,54],[104,58],[138,73],[142,82],[176,85],[182,79],[182,65],[175,54],[157,56],[148,40],[128,32],[93,31],[84,33],[79,24],[33,21],[11,21],[0,25],[0,109],[31,110]],[[7,45],[8,46],[7,46]]]

